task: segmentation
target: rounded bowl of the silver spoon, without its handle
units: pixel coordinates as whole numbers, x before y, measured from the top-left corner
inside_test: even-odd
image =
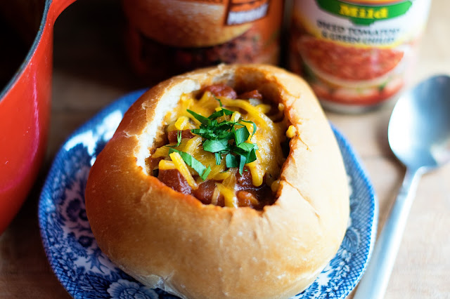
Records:
[[[405,93],[392,111],[387,138],[407,168],[430,171],[449,161],[450,77],[431,77]]]

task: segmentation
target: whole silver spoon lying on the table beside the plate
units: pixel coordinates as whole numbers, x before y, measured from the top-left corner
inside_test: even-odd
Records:
[[[431,77],[404,93],[387,138],[406,173],[354,299],[384,297],[420,177],[450,160],[450,77]]]

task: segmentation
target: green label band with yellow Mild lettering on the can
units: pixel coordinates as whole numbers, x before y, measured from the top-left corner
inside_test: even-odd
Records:
[[[363,6],[339,0],[316,0],[319,7],[333,15],[348,18],[356,25],[371,25],[377,20],[388,20],[404,15],[412,5],[411,1],[383,6]]]

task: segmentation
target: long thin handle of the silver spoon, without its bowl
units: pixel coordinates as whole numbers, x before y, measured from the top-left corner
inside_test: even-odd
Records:
[[[394,201],[390,215],[383,230],[375,242],[371,260],[366,273],[359,282],[354,299],[383,299],[395,258],[399,251],[401,236],[406,226],[409,210],[416,197],[416,190],[421,173],[418,169],[406,168],[397,199]]]

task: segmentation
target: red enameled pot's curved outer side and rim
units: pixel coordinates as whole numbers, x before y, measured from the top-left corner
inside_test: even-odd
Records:
[[[27,57],[0,92],[0,234],[22,206],[46,152],[53,25],[74,1],[45,1],[39,32]]]

